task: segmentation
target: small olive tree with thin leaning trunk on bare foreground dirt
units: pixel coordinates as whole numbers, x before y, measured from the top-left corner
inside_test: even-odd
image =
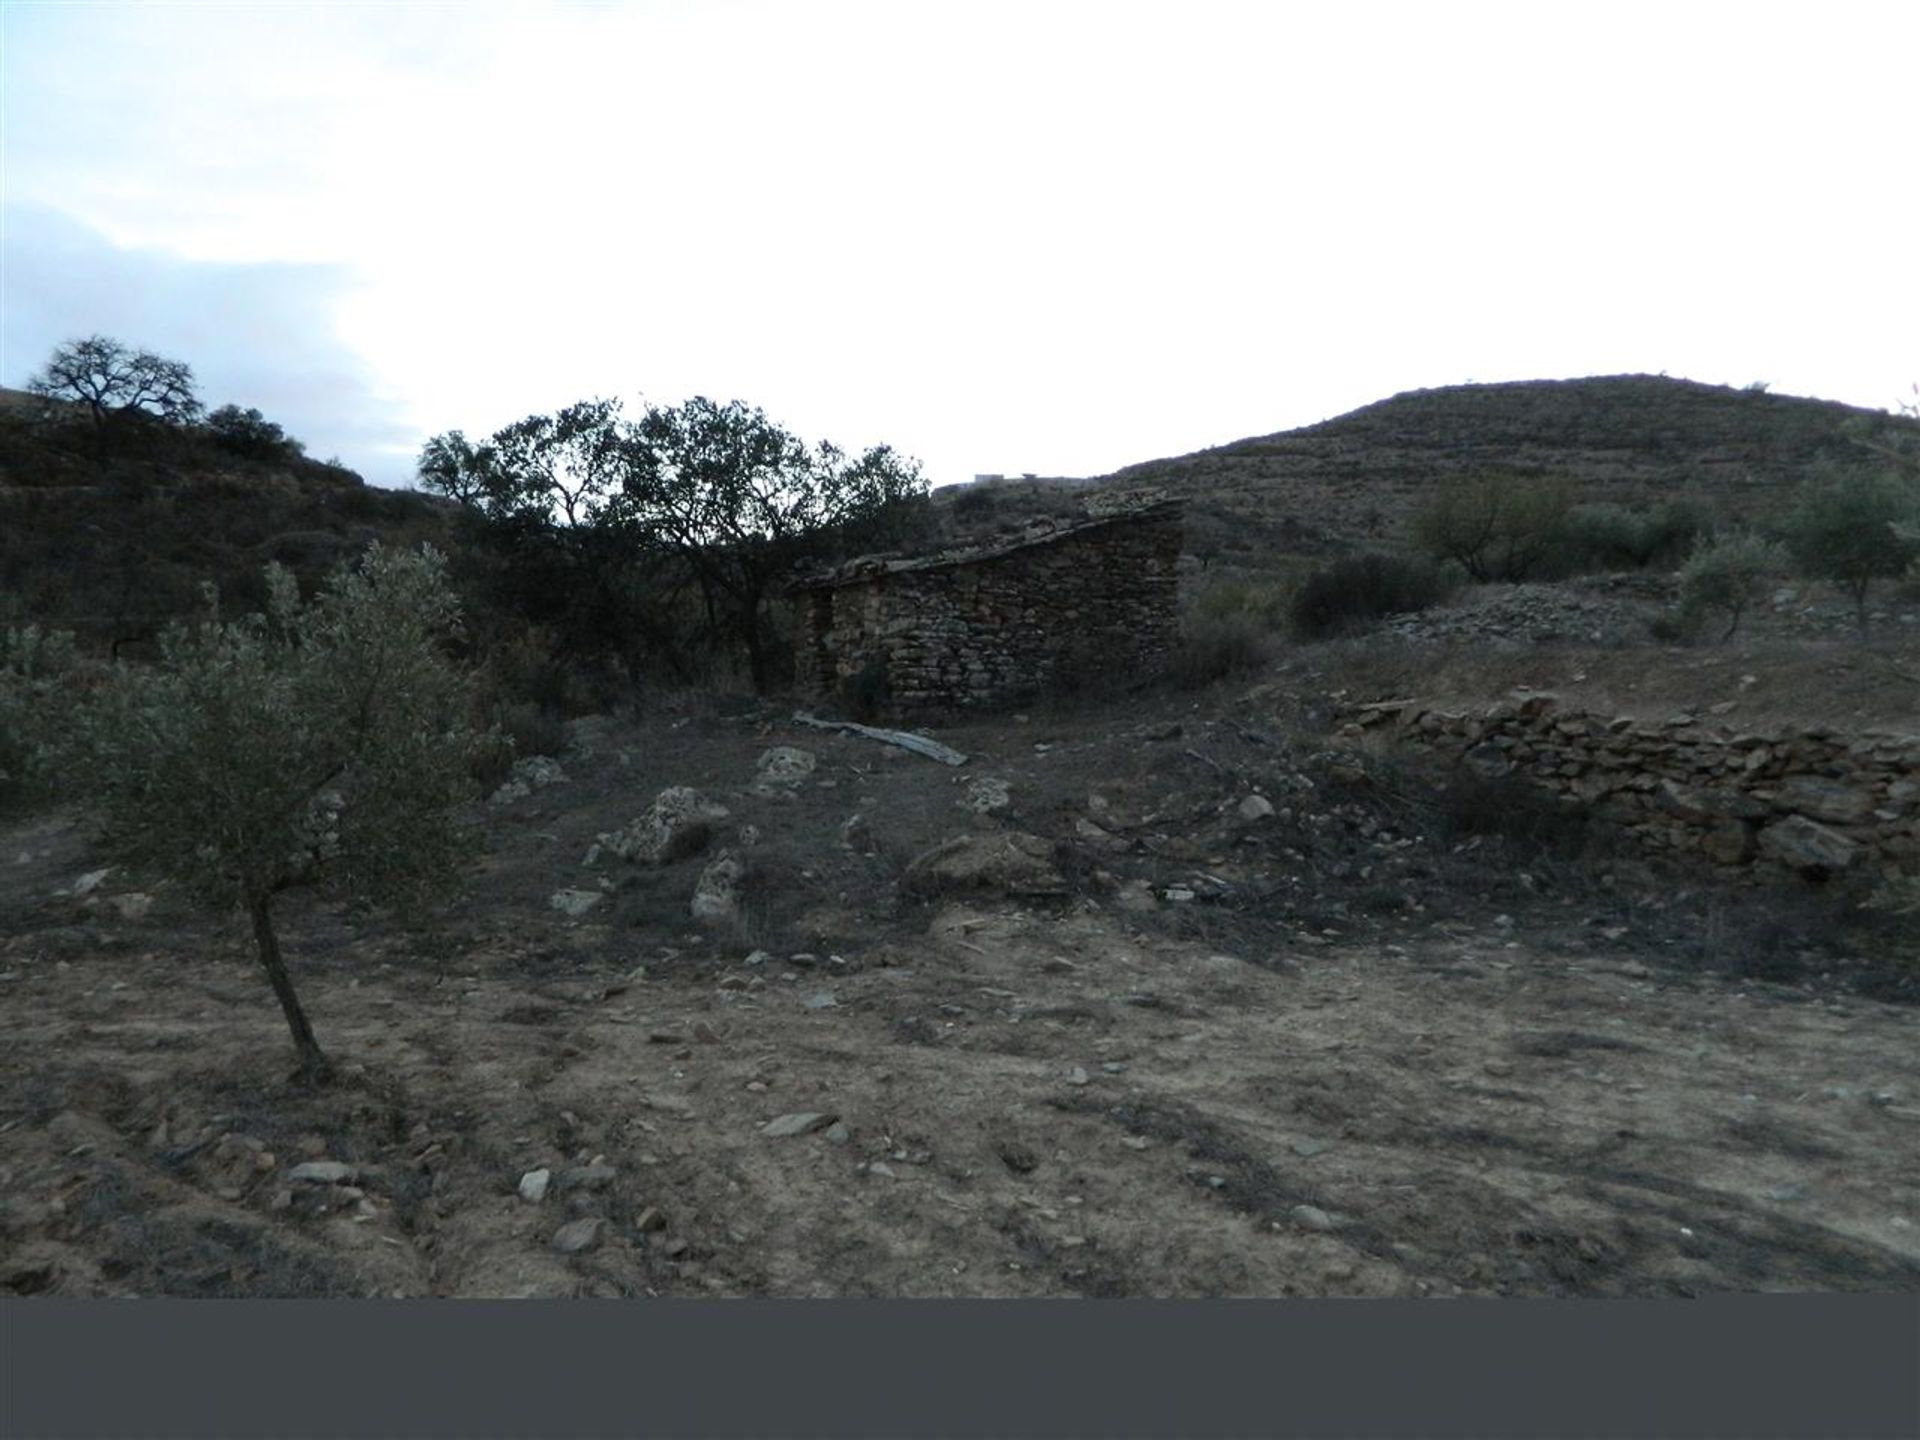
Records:
[[[372,900],[430,893],[470,851],[465,670],[444,561],[372,547],[311,603],[267,570],[265,614],[175,626],[152,666],[121,664],[81,708],[63,770],[108,841],[253,929],[301,1075],[326,1054],[294,993],[273,899],[334,883]]]

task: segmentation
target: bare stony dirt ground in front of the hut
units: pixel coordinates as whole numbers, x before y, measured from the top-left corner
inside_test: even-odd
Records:
[[[13,822],[0,1292],[1920,1284],[1920,968],[1885,925],[1450,810],[1229,695],[931,733],[970,762],[755,707],[584,726],[564,781],[484,808],[449,906],[288,897],[323,1091],[236,925],[125,872],[63,895],[106,860]],[[756,785],[772,745],[818,768]],[[981,778],[1004,808],[966,808]],[[732,812],[707,854],[584,864],[676,783]],[[1039,879],[914,883],[1008,833]],[[747,910],[703,929],[720,847]]]

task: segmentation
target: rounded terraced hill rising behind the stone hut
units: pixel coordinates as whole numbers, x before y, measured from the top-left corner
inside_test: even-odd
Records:
[[[1571,480],[1582,501],[1692,490],[1730,515],[1761,515],[1814,461],[1859,453],[1855,426],[1920,434],[1884,411],[1651,374],[1444,386],[1131,465],[1104,484],[1187,493],[1202,543],[1225,553],[1315,553],[1394,540],[1438,480],[1486,468]]]

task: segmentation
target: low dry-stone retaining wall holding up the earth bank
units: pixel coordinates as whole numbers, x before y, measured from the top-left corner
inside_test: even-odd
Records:
[[[1484,776],[1519,776],[1624,826],[1651,851],[1755,879],[1920,872],[1920,735],[1824,728],[1741,733],[1569,710],[1534,693],[1473,710],[1356,707],[1386,732]]]

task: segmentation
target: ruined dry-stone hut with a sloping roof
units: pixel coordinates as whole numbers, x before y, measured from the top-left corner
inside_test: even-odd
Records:
[[[852,682],[899,712],[1016,705],[1054,685],[1156,674],[1179,632],[1181,507],[1125,507],[799,580],[803,693]]]

